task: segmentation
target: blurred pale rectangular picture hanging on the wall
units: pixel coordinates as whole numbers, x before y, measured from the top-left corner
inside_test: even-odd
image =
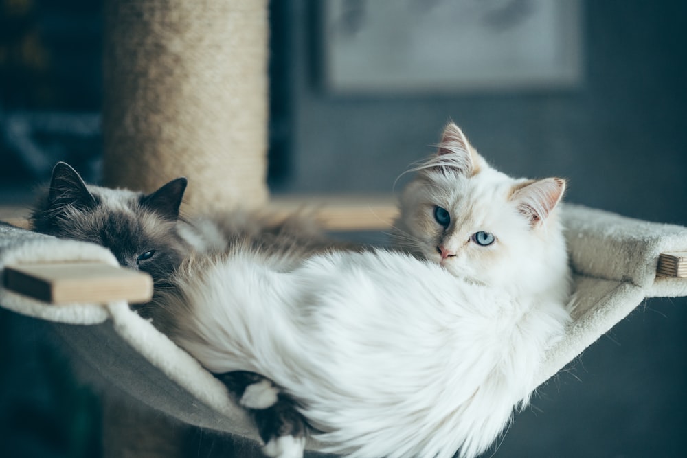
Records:
[[[326,91],[464,93],[578,87],[579,0],[326,0]]]

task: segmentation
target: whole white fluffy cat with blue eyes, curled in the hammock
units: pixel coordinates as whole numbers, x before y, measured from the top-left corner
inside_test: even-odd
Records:
[[[216,374],[273,380],[327,450],[486,450],[569,321],[565,182],[493,170],[453,124],[417,171],[396,240],[425,259],[334,252],[284,271],[251,247],[191,258],[158,303],[172,339]]]

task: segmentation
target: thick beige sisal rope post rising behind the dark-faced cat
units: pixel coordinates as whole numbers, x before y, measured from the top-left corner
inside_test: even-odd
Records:
[[[104,185],[267,203],[267,0],[106,0]]]

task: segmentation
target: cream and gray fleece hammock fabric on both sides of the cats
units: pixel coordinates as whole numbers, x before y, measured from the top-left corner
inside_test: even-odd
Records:
[[[563,220],[574,271],[574,321],[563,341],[548,352],[537,386],[644,298],[687,296],[687,279],[656,275],[661,253],[687,251],[687,227],[577,205],[563,207]],[[110,251],[98,245],[0,225],[0,275],[12,264],[68,261],[117,265]],[[130,310],[126,301],[56,306],[0,286],[0,306],[51,321],[70,351],[149,407],[188,424],[258,439],[251,420],[224,385]]]

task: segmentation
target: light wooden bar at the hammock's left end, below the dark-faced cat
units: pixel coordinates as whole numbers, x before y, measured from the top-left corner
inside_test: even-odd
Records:
[[[102,262],[44,262],[5,266],[5,288],[51,304],[114,300],[132,303],[153,297],[150,275]]]

